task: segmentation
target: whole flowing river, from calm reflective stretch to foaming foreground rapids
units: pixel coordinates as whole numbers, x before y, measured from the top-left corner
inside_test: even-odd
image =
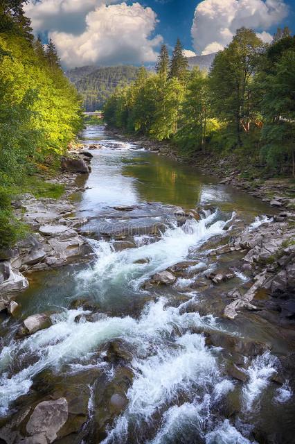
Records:
[[[36,273],[19,296],[23,318],[47,311],[51,327],[19,340],[17,321],[3,322],[0,415],[46,398],[61,380],[65,389],[74,377],[81,391],[89,388],[88,417],[78,441],[59,443],[291,443],[292,392],[287,381],[271,382],[280,366],[276,354],[288,345],[255,316],[232,323],[208,305],[206,313],[198,311],[206,296],[193,288],[204,270],[217,266],[206,253],[211,241],[229,235],[224,228],[234,212],[255,229],[269,220],[258,216],[270,208],[188,166],[113,139],[102,126],[87,128],[83,142],[102,145],[91,151],[86,191],[73,196],[77,214],[89,219],[82,230],[93,255],[87,263]],[[199,221],[179,224],[178,206],[207,210]],[[184,260],[188,277],[144,289],[154,273]],[[248,280],[235,271],[233,283]],[[205,306],[220,304],[221,291],[207,293]],[[226,375],[227,358],[206,343],[208,331],[269,342],[272,352],[244,358],[242,384]],[[111,343],[123,344],[129,359],[107,359]],[[109,415],[105,430],[101,412],[109,410],[114,393],[127,404]]]

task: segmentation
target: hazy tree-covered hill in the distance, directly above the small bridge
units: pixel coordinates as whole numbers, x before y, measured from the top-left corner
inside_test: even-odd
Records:
[[[118,85],[127,85],[136,78],[137,67],[80,67],[66,72],[84,99],[84,107],[92,112],[101,110]]]

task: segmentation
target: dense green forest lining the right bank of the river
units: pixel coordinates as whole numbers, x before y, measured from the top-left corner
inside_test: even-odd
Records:
[[[184,157],[235,153],[238,164],[295,177],[295,37],[278,28],[271,44],[240,28],[209,72],[188,62],[178,40],[162,46],[157,74],[141,67],[117,88],[105,120],[129,134],[168,139]]]

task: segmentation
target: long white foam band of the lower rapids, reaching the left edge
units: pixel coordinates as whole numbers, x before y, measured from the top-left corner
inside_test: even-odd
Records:
[[[64,311],[53,316],[53,325],[48,329],[41,330],[22,341],[12,341],[8,347],[3,348],[0,355],[0,366],[3,371],[0,378],[0,413],[6,413],[10,402],[28,393],[33,384],[33,377],[42,370],[45,368],[58,370],[62,365],[71,364],[76,359],[87,361],[87,357],[90,358],[91,353],[106,341],[124,337],[125,341],[129,341],[136,348],[139,355],[145,355],[152,344],[161,343],[175,328],[181,331],[201,325],[211,328],[215,326],[213,316],[202,317],[198,313],[181,313],[181,306],[175,308],[166,305],[165,298],[161,298],[158,302],[150,302],[138,321],[126,316],[105,317],[94,323],[83,320],[76,323],[76,316],[88,314],[89,311]],[[14,375],[9,375],[8,370],[12,362],[18,363],[24,356],[28,359],[32,357],[34,364],[26,366]]]

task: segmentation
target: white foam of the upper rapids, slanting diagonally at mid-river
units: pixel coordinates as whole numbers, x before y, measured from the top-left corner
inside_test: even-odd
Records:
[[[138,248],[114,252],[105,241],[98,242],[96,264],[82,271],[77,279],[81,287],[96,282],[100,294],[110,285],[133,285],[139,289],[141,284],[158,271],[184,260],[193,246],[200,246],[213,235],[222,234],[226,222],[215,221],[217,213],[206,219],[188,220],[182,227],[168,228],[157,242],[140,245]],[[146,264],[136,262],[148,259]]]

